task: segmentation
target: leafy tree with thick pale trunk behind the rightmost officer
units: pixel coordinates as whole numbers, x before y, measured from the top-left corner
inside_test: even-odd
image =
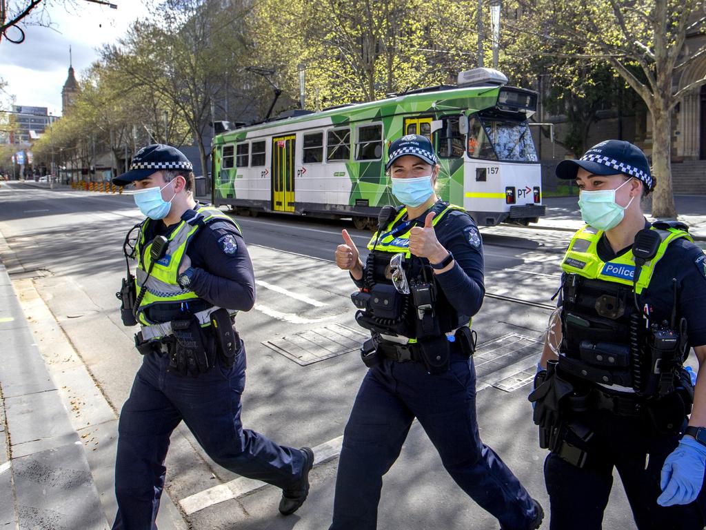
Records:
[[[574,61],[604,61],[645,102],[652,120],[652,170],[657,187],[652,214],[674,218],[671,186],[671,119],[681,98],[706,84],[706,76],[683,88],[674,87],[706,47],[686,49],[686,36],[704,28],[703,0],[535,0],[523,4],[530,21],[525,31],[545,45],[527,53],[567,57]],[[557,49],[563,49],[557,52]]]

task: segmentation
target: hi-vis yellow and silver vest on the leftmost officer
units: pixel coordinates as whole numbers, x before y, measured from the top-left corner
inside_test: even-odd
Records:
[[[189,300],[196,300],[198,298],[198,295],[196,295],[193,290],[184,289],[179,285],[179,282],[177,282],[179,266],[181,266],[181,261],[186,255],[186,248],[189,247],[189,242],[191,242],[193,236],[196,235],[196,232],[198,232],[203,225],[216,220],[225,220],[235,225],[238,231],[240,231],[238,224],[219,209],[209,206],[198,206],[196,208],[196,215],[193,216],[193,218],[181,220],[177,228],[174,228],[169,234],[167,237],[167,252],[162,259],[155,261],[149,278],[147,277],[147,271],[150,270],[150,264],[152,262],[150,257],[152,242],[145,245],[145,229],[148,223],[154,221],[147,219],[145,223],[140,226],[140,237],[135,254],[138,257],[135,278],[137,292],[140,292],[140,288],[145,291],[142,302],[140,302],[140,307],[138,307],[137,310],[137,319],[140,324],[155,324],[155,322],[151,322],[150,319],[145,316],[145,310],[152,305],[189,302]],[[215,309],[218,308],[216,307]]]

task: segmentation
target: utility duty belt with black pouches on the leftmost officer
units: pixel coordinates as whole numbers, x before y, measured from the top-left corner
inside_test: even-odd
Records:
[[[143,355],[167,353],[169,367],[178,375],[196,377],[206,372],[215,365],[216,355],[223,366],[232,366],[241,351],[241,342],[228,310],[220,308],[208,312],[205,317],[210,325],[205,327],[201,322],[204,315],[198,315],[143,326],[135,334],[137,350]],[[145,331],[151,338],[145,338]]]

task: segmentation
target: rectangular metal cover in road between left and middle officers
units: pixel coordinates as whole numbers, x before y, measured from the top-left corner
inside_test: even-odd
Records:
[[[301,366],[318,363],[360,348],[368,334],[343,324],[328,324],[262,344]]]

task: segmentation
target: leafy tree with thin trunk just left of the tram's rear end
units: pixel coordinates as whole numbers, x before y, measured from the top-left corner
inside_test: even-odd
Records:
[[[102,59],[131,86],[155,93],[189,127],[201,167],[208,168],[204,138],[215,101],[222,98],[241,49],[237,28],[242,8],[220,2],[167,0],[152,20],[136,22]]]

